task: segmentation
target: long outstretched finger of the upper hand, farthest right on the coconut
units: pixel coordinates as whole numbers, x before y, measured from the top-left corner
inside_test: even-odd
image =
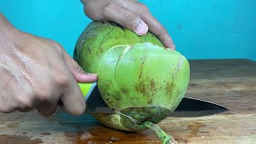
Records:
[[[123,1],[124,0],[119,0],[118,4],[126,7],[127,10],[132,11],[134,14],[138,14],[138,16],[142,18],[144,22],[146,22],[146,25],[149,27],[151,33],[157,36],[166,47],[175,50],[174,42],[172,38],[170,38],[170,34],[168,34],[166,28],[162,26],[162,24],[158,22],[158,20],[154,18],[152,14],[150,14],[150,10],[148,10],[145,5],[139,2]]]

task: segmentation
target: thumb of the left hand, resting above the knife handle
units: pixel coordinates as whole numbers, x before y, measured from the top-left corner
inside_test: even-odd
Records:
[[[74,78],[77,82],[95,82],[97,80],[97,74],[89,74],[82,70],[82,67],[78,65],[78,62],[75,62],[65,50],[62,50],[66,65],[70,69]]]

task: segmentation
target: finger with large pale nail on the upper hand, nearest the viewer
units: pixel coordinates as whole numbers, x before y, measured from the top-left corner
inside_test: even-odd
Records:
[[[118,24],[133,30],[138,35],[146,34],[148,31],[148,26],[137,14],[134,14],[130,10],[126,10],[116,3],[111,2],[106,5],[103,14],[107,20],[117,22]]]

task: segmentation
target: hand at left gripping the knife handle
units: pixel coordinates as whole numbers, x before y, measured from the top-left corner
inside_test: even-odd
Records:
[[[59,45],[14,29],[0,14],[0,112],[38,110],[54,114],[58,102],[82,114],[86,102],[77,82],[94,82]]]

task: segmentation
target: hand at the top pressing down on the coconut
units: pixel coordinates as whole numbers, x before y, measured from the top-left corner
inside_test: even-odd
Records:
[[[164,26],[137,0],[82,0],[82,3],[86,15],[94,21],[117,22],[138,35],[150,30],[166,47],[175,49]]]

